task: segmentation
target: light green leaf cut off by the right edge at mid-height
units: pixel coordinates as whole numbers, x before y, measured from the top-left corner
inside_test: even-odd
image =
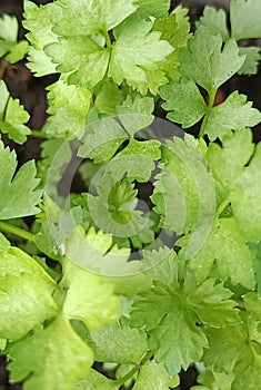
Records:
[[[261,237],[260,158],[261,144],[253,153],[252,134],[241,129],[223,139],[223,147],[211,145],[208,159],[214,178],[227,189],[227,203],[231,202],[234,218],[245,240]],[[231,158],[231,153],[235,156]],[[251,162],[249,163],[249,160]],[[249,163],[249,165],[247,165]]]

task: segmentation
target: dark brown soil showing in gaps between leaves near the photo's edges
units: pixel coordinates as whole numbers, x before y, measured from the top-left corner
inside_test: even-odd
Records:
[[[104,0],[106,1],[106,0]],[[46,4],[50,0],[34,0],[37,4]],[[230,0],[178,0],[172,1],[172,7],[182,4],[190,9],[190,18],[192,21],[192,29],[194,21],[202,14],[203,7],[214,6],[217,8],[224,8],[229,11]],[[24,29],[21,26],[22,20],[22,0],[0,0],[0,16],[3,13],[13,14],[20,21],[19,38],[24,37]],[[244,46],[252,42],[243,42]],[[255,45],[261,47],[261,40],[255,40]],[[3,72],[3,79],[7,82],[11,95],[19,98],[26,109],[29,111],[31,118],[29,126],[34,130],[40,130],[44,120],[47,119],[47,97],[44,88],[54,82],[58,76],[48,76],[41,78],[34,78],[26,67],[26,60],[10,66],[7,64],[0,64],[0,71]],[[254,107],[261,110],[261,71],[257,76],[234,76],[225,86],[220,90],[219,99],[222,101],[232,90],[239,90],[241,94],[245,94],[248,99],[254,103]],[[188,133],[197,134],[198,128],[191,128]],[[261,125],[253,129],[254,140],[261,139]],[[14,144],[7,137],[4,144],[14,147]],[[23,164],[29,159],[37,159],[40,156],[41,140],[37,138],[30,138],[23,146],[16,145],[16,150],[19,158],[19,164]],[[195,384],[197,372],[193,368],[190,368],[187,372],[181,373],[181,386],[177,390],[189,390]],[[6,370],[6,359],[0,357],[0,390],[20,390],[20,384],[11,384],[8,382],[8,372]],[[60,389],[58,389],[60,390]],[[102,390],[102,389],[101,389]],[[147,390],[147,389],[144,389]]]

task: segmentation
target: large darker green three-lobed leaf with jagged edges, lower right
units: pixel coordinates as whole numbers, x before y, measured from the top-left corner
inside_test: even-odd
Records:
[[[150,290],[138,294],[130,313],[132,326],[145,326],[155,362],[163,362],[170,376],[181,367],[185,370],[191,361],[199,361],[208,347],[198,322],[214,326],[239,322],[235,302],[228,300],[229,290],[214,285],[213,280],[197,285],[189,279],[183,290],[179,284],[153,281]],[[210,309],[213,306],[215,313]]]

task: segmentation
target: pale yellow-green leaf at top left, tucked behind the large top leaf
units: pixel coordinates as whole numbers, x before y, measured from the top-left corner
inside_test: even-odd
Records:
[[[29,48],[28,68],[37,77],[56,72],[56,64],[47,56],[43,48],[47,45],[58,41],[58,37],[52,31],[50,19],[50,6],[36,6],[32,1],[24,0],[23,27],[29,30],[27,39],[31,43]]]

